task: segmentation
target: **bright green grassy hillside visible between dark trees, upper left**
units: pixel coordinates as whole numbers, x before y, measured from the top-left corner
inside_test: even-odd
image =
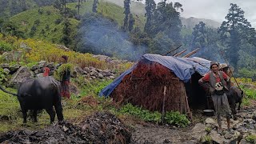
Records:
[[[83,2],[80,14],[90,13],[92,11],[93,1]],[[77,2],[67,4],[70,10],[77,10]],[[124,18],[123,8],[111,2],[101,1],[98,5],[98,13],[105,15],[107,18],[114,19],[122,26]],[[142,15],[134,14],[135,26],[141,29],[145,24],[145,18]],[[79,21],[70,18],[71,38],[77,33]],[[53,6],[44,6],[38,9],[26,10],[10,18],[18,30],[25,33],[26,38],[44,39],[49,42],[62,43],[63,18],[60,11]]]

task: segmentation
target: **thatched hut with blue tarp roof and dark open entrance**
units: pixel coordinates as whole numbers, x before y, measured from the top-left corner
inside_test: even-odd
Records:
[[[147,110],[173,110],[190,116],[190,107],[206,106],[198,79],[209,72],[209,67],[210,61],[203,58],[144,54],[99,95]]]

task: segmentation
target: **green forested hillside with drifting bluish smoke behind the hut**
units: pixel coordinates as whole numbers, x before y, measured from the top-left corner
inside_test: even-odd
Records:
[[[204,22],[189,29],[180,18],[182,3],[136,2],[146,11],[138,14],[130,9],[132,2],[117,6],[105,0],[0,0],[0,32],[130,61],[147,53],[166,54],[180,45],[170,55],[200,48],[193,56],[227,62],[239,77],[256,78],[256,32],[237,4],[230,3],[217,29]]]

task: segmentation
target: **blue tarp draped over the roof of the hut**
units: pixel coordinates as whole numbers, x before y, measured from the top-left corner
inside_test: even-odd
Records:
[[[166,66],[168,69],[172,70],[174,74],[183,82],[188,82],[195,72],[198,74],[204,75],[210,69],[210,61],[193,57],[193,58],[178,58],[172,56],[162,56],[158,54],[144,54],[141,58],[147,59],[152,62],[158,62],[162,64],[162,66]],[[114,80],[114,82],[110,83],[110,85],[106,86],[100,93],[99,96],[109,96],[116,86],[122,81],[122,78],[126,76],[126,74],[130,74],[132,70],[137,66],[137,63],[134,64],[129,70],[126,70],[122,73],[118,78]]]

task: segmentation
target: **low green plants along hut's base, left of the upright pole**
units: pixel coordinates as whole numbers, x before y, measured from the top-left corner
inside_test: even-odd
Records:
[[[161,122],[161,114],[158,111],[150,112],[149,110],[144,110],[142,107],[133,106],[130,103],[127,103],[125,106],[119,110],[121,114],[130,114],[146,122]]]

